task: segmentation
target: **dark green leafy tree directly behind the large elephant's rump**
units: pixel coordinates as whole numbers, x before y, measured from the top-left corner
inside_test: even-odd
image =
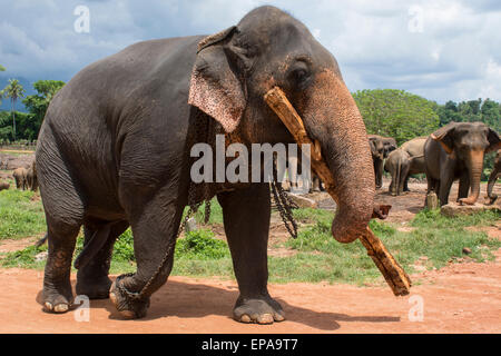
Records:
[[[50,101],[63,86],[65,82],[59,80],[39,80],[33,83],[33,88],[38,93],[28,96],[22,100],[22,103],[24,103],[31,115],[36,135],[38,135],[38,130],[43,121]]]

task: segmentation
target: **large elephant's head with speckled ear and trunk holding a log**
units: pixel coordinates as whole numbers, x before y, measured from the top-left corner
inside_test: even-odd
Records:
[[[198,44],[188,102],[243,144],[293,142],[264,96],[279,87],[320,144],[336,182],[333,236],[353,241],[371,219],[374,174],[365,126],[335,58],[289,14],[261,7]]]

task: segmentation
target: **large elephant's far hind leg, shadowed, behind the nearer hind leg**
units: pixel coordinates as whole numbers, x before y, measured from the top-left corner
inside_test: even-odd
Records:
[[[110,224],[109,228],[101,228],[101,230],[106,230],[106,236],[99,236],[99,230],[92,229],[88,225],[84,227],[84,247],[95,236],[106,239],[102,243],[101,249],[85,266],[78,269],[77,294],[86,295],[90,299],[106,299],[109,297],[111,280],[108,278],[108,273],[111,263],[111,253],[115,241],[129,226],[128,221],[108,224]]]

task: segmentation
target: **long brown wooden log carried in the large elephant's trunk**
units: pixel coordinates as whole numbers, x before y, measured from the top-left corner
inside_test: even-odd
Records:
[[[287,97],[281,88],[275,87],[264,97],[266,103],[275,111],[275,113],[284,122],[285,127],[291,131],[296,142],[301,146],[311,145],[311,166],[313,171],[322,179],[325,190],[333,197],[338,205],[338,199],[334,191],[334,178],[325,161],[322,159],[320,145],[313,142],[304,128],[303,120],[297,111],[287,100]],[[411,288],[411,278],[405,270],[393,258],[392,254],[384,247],[383,243],[367,227],[365,234],[358,236],[362,245],[367,249],[367,255],[375,263],[384,279],[392,288],[395,296],[407,295]]]

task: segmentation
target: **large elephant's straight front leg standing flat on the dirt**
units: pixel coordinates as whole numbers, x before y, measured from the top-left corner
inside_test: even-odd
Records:
[[[240,295],[233,317],[242,323],[282,322],[284,312],[268,294],[267,245],[269,234],[269,185],[217,196],[223,207],[226,238]]]

